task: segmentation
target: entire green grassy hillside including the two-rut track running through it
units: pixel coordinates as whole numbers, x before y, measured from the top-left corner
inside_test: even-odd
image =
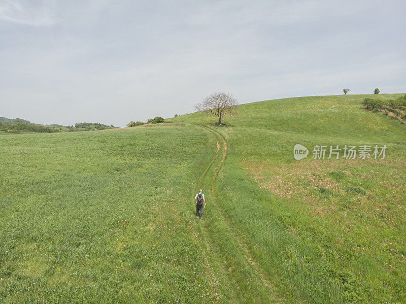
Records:
[[[406,126],[367,96],[0,137],[0,301],[404,303]],[[295,144],[388,148],[296,161]]]

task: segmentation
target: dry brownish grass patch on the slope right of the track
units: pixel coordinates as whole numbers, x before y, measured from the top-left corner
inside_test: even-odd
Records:
[[[393,167],[389,175],[381,170],[382,164]],[[376,216],[378,210],[390,212],[388,202],[398,204],[406,196],[406,189],[402,187],[404,173],[399,163],[390,159],[331,159],[281,165],[269,160],[251,160],[243,165],[261,188],[310,206],[316,216],[335,213],[337,206],[343,204]],[[364,189],[357,185],[362,181],[375,181],[383,187]]]

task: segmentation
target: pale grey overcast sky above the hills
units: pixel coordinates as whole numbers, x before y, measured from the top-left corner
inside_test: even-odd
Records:
[[[406,92],[406,1],[0,0],[0,116],[35,123]]]

